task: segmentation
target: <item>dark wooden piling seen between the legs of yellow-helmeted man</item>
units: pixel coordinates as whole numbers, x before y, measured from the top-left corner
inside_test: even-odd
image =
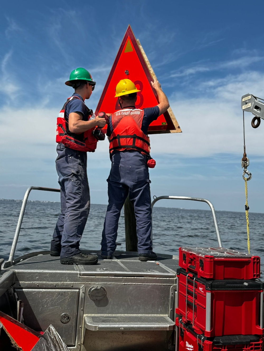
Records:
[[[137,225],[134,206],[127,197],[124,205],[126,251],[138,251]]]

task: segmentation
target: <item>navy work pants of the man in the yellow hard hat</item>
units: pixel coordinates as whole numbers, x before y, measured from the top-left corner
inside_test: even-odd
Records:
[[[108,206],[102,232],[102,254],[111,256],[117,247],[118,220],[127,196],[134,205],[138,253],[152,252],[150,180],[146,157],[135,151],[116,151],[107,182]]]

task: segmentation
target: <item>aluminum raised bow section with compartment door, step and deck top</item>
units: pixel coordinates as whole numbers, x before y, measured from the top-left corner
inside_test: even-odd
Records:
[[[21,301],[25,325],[45,331],[52,324],[72,351],[108,350],[109,343],[119,350],[124,335],[133,350],[139,340],[144,350],[168,349],[178,257],[139,261],[137,252],[116,251],[103,260],[99,251],[83,252],[98,254],[98,263],[63,265],[49,251],[16,258],[0,271],[0,310],[7,298],[14,309]]]

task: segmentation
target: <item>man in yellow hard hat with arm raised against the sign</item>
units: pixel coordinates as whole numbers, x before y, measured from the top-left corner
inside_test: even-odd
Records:
[[[159,104],[155,107],[135,107],[138,90],[130,79],[122,79],[115,89],[121,110],[109,118],[107,136],[112,160],[108,182],[108,206],[102,232],[101,257],[111,259],[117,247],[118,220],[129,196],[137,222],[140,261],[155,260],[151,240],[151,198],[148,167],[154,167],[150,157],[147,130],[152,121],[169,108],[169,101],[157,80],[151,82]]]

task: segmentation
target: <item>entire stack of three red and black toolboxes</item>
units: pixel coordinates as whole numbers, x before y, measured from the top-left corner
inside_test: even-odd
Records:
[[[179,252],[177,351],[263,351],[260,258],[219,247]]]

